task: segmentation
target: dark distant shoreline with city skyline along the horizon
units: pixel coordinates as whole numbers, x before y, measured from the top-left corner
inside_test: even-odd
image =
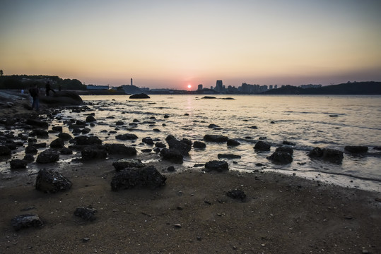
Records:
[[[381,95],[381,82],[361,81],[339,85],[250,85],[242,83],[235,87],[225,87],[217,80],[215,87],[198,85],[197,90],[150,89],[136,85],[86,85],[76,79],[62,79],[52,75],[0,75],[0,89],[28,90],[37,83],[41,88],[49,82],[54,90],[76,90],[79,95]]]

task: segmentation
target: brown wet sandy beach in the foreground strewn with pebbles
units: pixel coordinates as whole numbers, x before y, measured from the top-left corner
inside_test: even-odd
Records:
[[[18,108],[15,108],[18,107]],[[26,113],[1,109],[1,117]],[[0,253],[381,253],[380,193],[277,173],[204,172],[150,162],[167,177],[152,189],[112,191],[112,162],[42,164],[73,183],[42,193],[36,174],[0,175]],[[240,189],[236,200],[226,193]],[[74,216],[93,207],[93,222]],[[15,231],[11,219],[38,214],[44,225]]]

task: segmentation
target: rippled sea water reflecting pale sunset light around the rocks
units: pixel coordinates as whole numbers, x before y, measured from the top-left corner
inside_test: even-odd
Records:
[[[93,112],[97,122],[90,127],[90,133],[98,135],[103,143],[136,145],[138,151],[152,148],[141,143],[148,136],[165,143],[167,135],[203,141],[204,135],[216,134],[241,143],[238,147],[227,147],[205,142],[205,150],[192,149],[189,157],[184,158],[187,167],[218,159],[218,153],[235,154],[242,158],[228,159],[230,169],[281,171],[316,181],[381,191],[381,151],[374,149],[381,146],[380,96],[216,95],[217,99],[201,99],[203,96],[150,95],[151,99],[129,99],[127,95],[83,96],[93,111],[64,110],[61,116],[84,121],[85,114]],[[234,99],[223,99],[226,97]],[[137,126],[129,126],[134,119],[139,120]],[[116,126],[117,121],[123,121],[124,125]],[[209,128],[211,123],[219,128]],[[110,134],[115,128],[117,134],[134,133],[139,138],[135,142],[116,140],[117,134]],[[153,131],[154,128],[160,132]],[[270,152],[254,152],[259,138],[271,143]],[[283,140],[295,143],[293,162],[272,164],[266,157]],[[344,151],[346,145],[366,145],[369,153],[364,156],[344,153],[342,164],[307,157],[314,147]],[[263,165],[257,166],[258,163]]]

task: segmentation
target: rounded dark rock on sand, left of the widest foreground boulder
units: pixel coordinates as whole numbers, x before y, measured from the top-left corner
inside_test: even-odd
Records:
[[[71,181],[53,169],[41,169],[37,174],[36,190],[57,193],[71,188]]]

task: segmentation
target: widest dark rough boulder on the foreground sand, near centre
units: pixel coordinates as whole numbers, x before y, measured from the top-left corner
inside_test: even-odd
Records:
[[[112,191],[121,188],[158,188],[165,185],[166,177],[153,166],[143,169],[129,168],[117,172],[111,181]]]

